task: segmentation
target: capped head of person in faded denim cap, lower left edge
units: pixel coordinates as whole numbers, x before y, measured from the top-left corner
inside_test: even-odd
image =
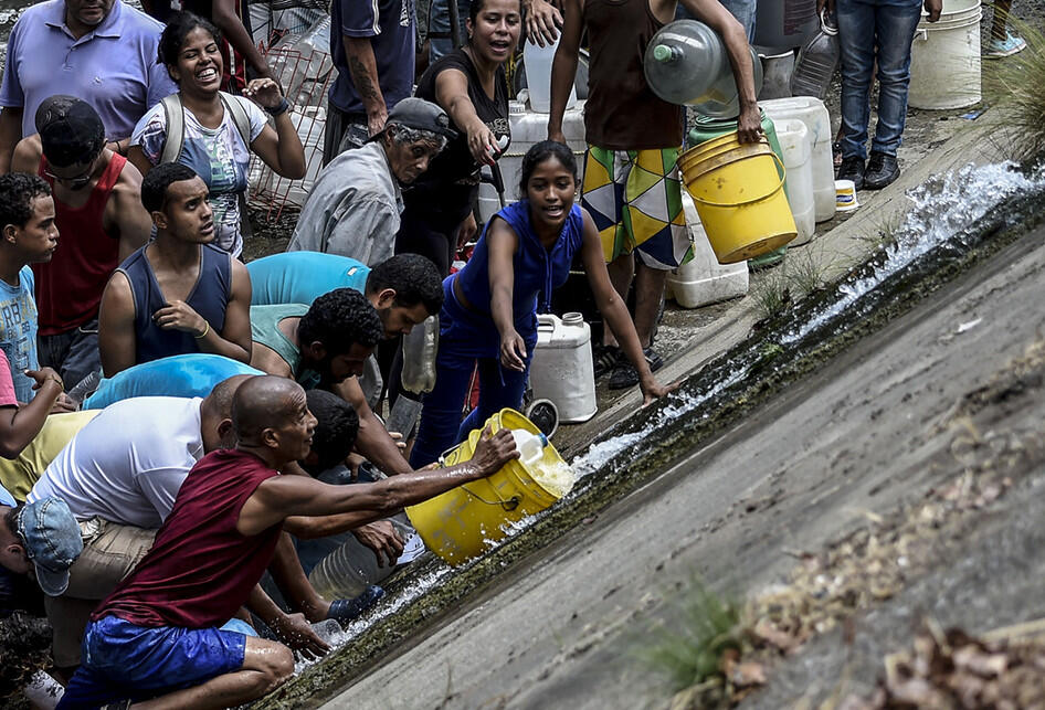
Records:
[[[57,596],[68,586],[68,568],[84,549],[80,524],[61,498],[18,505],[0,488],[0,565],[34,574],[40,589]]]

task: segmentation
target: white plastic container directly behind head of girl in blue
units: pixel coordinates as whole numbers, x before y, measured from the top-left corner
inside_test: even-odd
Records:
[[[497,165],[500,166],[500,176],[505,181],[505,204],[516,202],[521,197],[519,178],[522,171],[522,156],[534,144],[548,137],[548,114],[528,110],[520,102],[508,102],[508,120],[511,125],[511,145],[497,160]],[[588,149],[588,144],[584,142],[584,102],[578,102],[577,106],[568,108],[562,114],[562,135],[566,136],[566,145],[577,158],[577,169],[581,173],[580,179],[583,180],[584,151]],[[497,199],[497,191],[492,184],[481,183],[479,216],[485,222],[499,209],[500,201]]]

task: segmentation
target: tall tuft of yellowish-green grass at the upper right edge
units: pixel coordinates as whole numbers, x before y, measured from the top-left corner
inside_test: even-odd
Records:
[[[1045,35],[1018,18],[1009,23],[1027,49],[984,62],[983,89],[1012,131],[1013,158],[1030,158],[1045,150]]]

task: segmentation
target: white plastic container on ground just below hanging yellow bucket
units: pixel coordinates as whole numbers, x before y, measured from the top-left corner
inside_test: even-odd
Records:
[[[689,194],[683,192],[686,226],[693,239],[693,261],[668,272],[671,298],[683,308],[699,308],[748,293],[748,263],[719,264]]]

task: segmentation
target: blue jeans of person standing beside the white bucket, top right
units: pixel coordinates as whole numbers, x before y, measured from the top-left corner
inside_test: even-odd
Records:
[[[910,44],[921,0],[837,0],[842,51],[842,156],[867,157],[870,81],[878,63],[878,124],[870,149],[896,156],[907,120]]]

